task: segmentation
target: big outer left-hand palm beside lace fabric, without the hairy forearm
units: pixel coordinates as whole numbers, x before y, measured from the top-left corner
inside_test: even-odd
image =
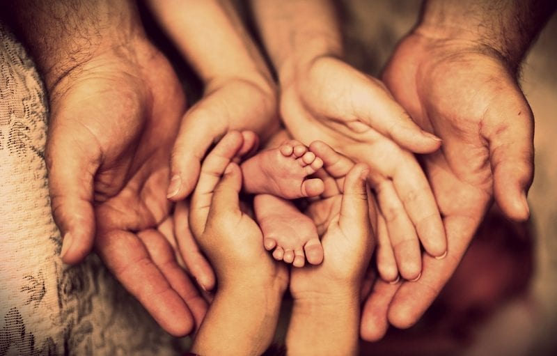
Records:
[[[77,263],[94,241],[155,320],[173,335],[187,334],[206,304],[157,231],[171,208],[168,162],[185,111],[171,66],[136,39],[95,53],[50,96],[47,162],[63,261]]]

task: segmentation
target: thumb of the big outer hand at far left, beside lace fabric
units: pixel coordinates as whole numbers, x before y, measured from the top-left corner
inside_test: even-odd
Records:
[[[79,135],[65,131],[52,129],[47,144],[47,167],[52,215],[63,237],[60,256],[65,263],[74,264],[93,248],[93,176],[100,154],[91,152],[94,145],[79,142],[76,139]]]

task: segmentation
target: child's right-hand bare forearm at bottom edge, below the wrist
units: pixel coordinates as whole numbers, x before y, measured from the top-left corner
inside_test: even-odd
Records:
[[[288,355],[357,355],[359,316],[357,293],[295,300],[286,335]]]

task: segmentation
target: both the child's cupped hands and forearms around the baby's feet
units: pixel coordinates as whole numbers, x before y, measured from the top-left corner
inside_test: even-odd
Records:
[[[240,210],[242,173],[230,162],[242,140],[242,134],[230,132],[207,155],[191,200],[191,228],[219,281],[191,348],[199,355],[260,355],[272,340],[288,285],[285,265],[270,258],[257,224]],[[331,350],[357,355],[360,288],[375,245],[366,187],[369,172],[322,142],[312,144],[311,150],[326,155],[320,171],[328,182],[323,199],[308,208],[321,223],[326,255],[322,265],[290,273],[294,305],[288,355],[327,355]]]

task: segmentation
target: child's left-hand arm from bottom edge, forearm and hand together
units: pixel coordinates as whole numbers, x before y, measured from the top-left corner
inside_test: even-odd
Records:
[[[191,198],[192,231],[219,281],[191,348],[200,355],[261,355],[288,286],[285,265],[267,254],[258,225],[240,210],[242,173],[231,162],[242,141],[240,132],[219,141],[203,161]]]

